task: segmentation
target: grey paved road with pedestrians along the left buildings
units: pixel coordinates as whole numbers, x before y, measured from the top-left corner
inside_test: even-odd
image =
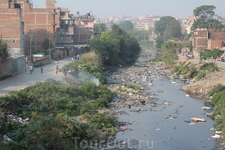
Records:
[[[71,62],[71,57],[59,60],[59,68],[63,65]],[[34,85],[37,82],[44,81],[46,79],[62,79],[63,73],[59,72],[57,75],[55,73],[55,63],[45,65],[43,67],[43,74],[41,74],[41,68],[34,68],[34,72],[27,74],[27,72],[22,72],[18,75],[12,76],[6,80],[0,81],[0,96],[5,95],[8,92],[21,90],[25,87]]]

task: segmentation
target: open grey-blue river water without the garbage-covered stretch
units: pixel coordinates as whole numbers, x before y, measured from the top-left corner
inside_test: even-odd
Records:
[[[162,77],[155,75],[155,78],[158,76]],[[151,78],[154,76],[151,75]],[[217,141],[211,137],[215,131],[210,130],[214,127],[214,121],[206,116],[206,113],[210,113],[209,110],[202,110],[202,107],[210,104],[189,97],[180,90],[185,84],[179,80],[173,81],[176,83],[172,83],[168,77],[154,80],[154,85],[149,86],[150,90],[147,92],[163,91],[154,96],[155,105],[132,108],[147,111],[113,108],[128,112],[116,117],[119,121],[131,123],[125,127],[132,129],[118,132],[116,141],[124,141],[127,149],[141,150],[209,150],[216,147]],[[171,105],[163,105],[165,102]],[[204,118],[206,122],[185,122],[192,117]]]

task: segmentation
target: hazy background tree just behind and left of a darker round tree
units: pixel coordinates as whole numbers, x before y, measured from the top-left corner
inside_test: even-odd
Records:
[[[163,16],[160,18],[159,21],[155,23],[155,33],[163,35],[166,27],[171,23],[171,21],[176,20],[174,17],[171,16]]]

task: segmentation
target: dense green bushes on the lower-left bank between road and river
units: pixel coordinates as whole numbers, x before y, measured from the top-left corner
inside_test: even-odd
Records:
[[[8,150],[68,150],[81,140],[100,140],[115,135],[116,118],[97,110],[106,107],[112,95],[106,86],[87,82],[82,86],[61,85],[54,80],[38,83],[0,98],[0,147]],[[7,113],[6,113],[7,112]],[[27,123],[7,115],[29,118]],[[77,116],[84,115],[80,119]],[[103,134],[98,134],[103,129]],[[3,142],[2,136],[12,140]]]

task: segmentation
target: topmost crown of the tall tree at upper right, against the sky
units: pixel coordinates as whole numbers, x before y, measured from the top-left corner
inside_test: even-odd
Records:
[[[203,20],[206,20],[208,17],[214,16],[215,12],[214,9],[216,9],[213,5],[202,5],[194,9],[194,15],[199,16]]]

